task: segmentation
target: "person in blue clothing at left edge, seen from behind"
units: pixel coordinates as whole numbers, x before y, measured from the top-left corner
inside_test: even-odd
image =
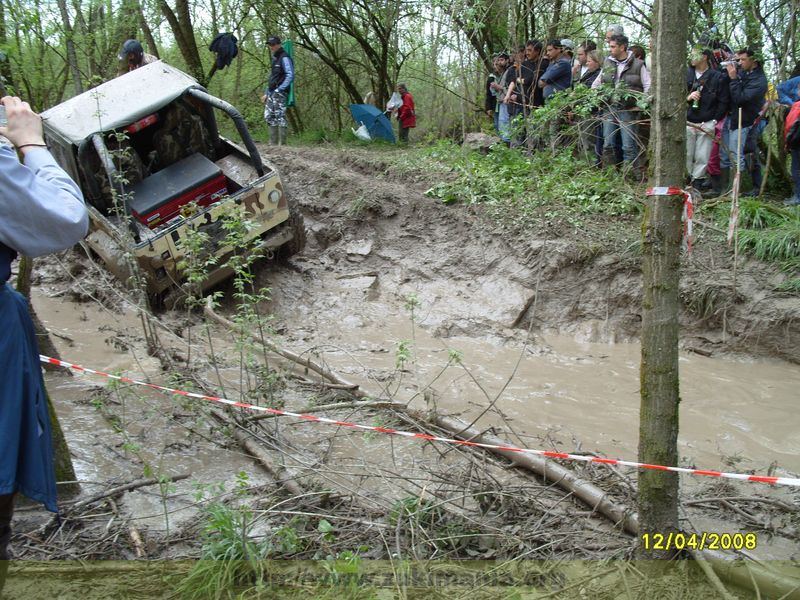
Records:
[[[7,561],[17,492],[57,512],[39,350],[27,302],[8,284],[11,263],[17,254],[69,248],[86,235],[89,220],[80,188],[47,150],[39,115],[17,97],[0,103],[7,114],[0,126],[0,561]]]

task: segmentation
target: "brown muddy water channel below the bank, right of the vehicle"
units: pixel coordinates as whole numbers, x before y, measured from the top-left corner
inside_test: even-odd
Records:
[[[286,282],[278,277],[274,283],[277,289]],[[280,313],[281,306],[290,305],[283,318],[295,326],[309,324],[294,333],[319,345],[325,360],[351,379],[393,371],[399,340],[413,338],[416,362],[406,365],[400,398],[415,398],[416,405],[424,406],[415,392],[437,378],[433,388],[439,408],[468,421],[499,395],[496,410],[486,412],[477,425],[508,425],[519,436],[512,438],[516,443],[636,460],[638,344],[583,343],[555,334],[526,342],[521,332],[501,328],[503,337],[441,339],[428,335],[426,325],[441,323],[441,315],[450,312],[444,303],[418,307],[412,331],[400,297],[392,301],[362,282],[361,301],[352,302],[347,299],[354,297],[358,282],[324,284],[310,301],[282,297],[275,308]],[[463,368],[441,373],[449,349],[461,353]],[[355,360],[363,368],[354,366]],[[800,369],[778,360],[681,353],[680,375],[682,466],[764,473],[776,463],[778,473],[800,472]],[[366,385],[372,390],[398,387],[396,378]]]

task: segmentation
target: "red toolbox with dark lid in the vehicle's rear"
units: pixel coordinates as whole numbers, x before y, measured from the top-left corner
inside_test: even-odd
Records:
[[[222,169],[202,154],[193,154],[143,179],[130,193],[131,214],[153,229],[178,215],[189,202],[213,204],[228,188]]]

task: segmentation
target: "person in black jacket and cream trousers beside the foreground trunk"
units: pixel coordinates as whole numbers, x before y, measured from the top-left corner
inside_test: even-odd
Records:
[[[725,118],[730,104],[727,76],[710,68],[711,57],[709,48],[694,48],[686,71],[686,170],[692,187],[698,189],[707,187],[714,127]]]

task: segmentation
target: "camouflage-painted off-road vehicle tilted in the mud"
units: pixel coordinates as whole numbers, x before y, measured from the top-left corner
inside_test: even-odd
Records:
[[[217,115],[232,120],[244,147],[220,135]],[[305,243],[302,217],[242,115],[166,63],[103,83],[42,117],[51,152],[86,198],[86,243],[124,281],[138,263],[151,297],[182,282],[181,240],[192,230],[208,234],[203,252],[219,258],[203,289],[231,275],[222,220],[233,206],[243,207],[253,224],[248,239],[264,253],[292,254]]]

